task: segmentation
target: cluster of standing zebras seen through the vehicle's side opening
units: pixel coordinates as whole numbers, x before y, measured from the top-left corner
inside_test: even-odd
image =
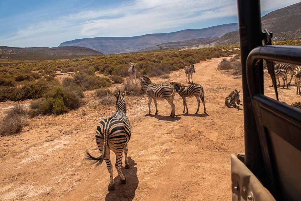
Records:
[[[295,77],[295,84],[297,85],[296,94],[298,94],[298,91],[299,91],[299,94],[301,95],[301,91],[300,91],[301,67],[297,66],[297,65],[289,64],[289,63],[275,63],[275,62],[273,62],[273,65],[274,65],[275,76],[278,80],[278,86],[280,86],[279,77],[281,77],[282,80],[283,80],[283,87],[282,88],[284,88],[284,86],[285,86],[285,81],[286,81],[286,88],[288,88],[288,85],[291,84],[291,81],[292,81],[293,77]],[[267,61],[266,60],[263,60],[263,66],[265,68],[267,68]],[[291,75],[289,82],[287,80],[288,73],[290,73],[290,75]]]

